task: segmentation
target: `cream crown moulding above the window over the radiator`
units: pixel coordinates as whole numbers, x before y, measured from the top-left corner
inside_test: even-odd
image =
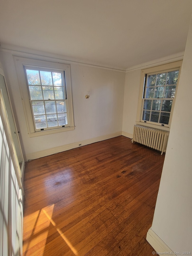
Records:
[[[180,61],[180,60],[183,60],[183,56],[184,56],[184,52],[176,53],[176,54],[169,55],[169,56],[166,56],[161,59],[155,59],[153,61],[145,62],[143,64],[136,65],[131,68],[127,68],[125,72],[127,73],[127,72],[135,71],[138,69],[151,68],[151,67],[155,67],[155,66],[159,66],[159,65],[168,64],[171,62]]]

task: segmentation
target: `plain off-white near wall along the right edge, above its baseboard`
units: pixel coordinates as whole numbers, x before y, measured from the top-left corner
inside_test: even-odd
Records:
[[[151,230],[172,251],[192,254],[192,24]],[[149,232],[148,232],[149,233]]]

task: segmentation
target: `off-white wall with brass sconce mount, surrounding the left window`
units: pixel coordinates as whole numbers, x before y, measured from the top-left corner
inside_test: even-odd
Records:
[[[121,135],[125,72],[72,63],[71,84],[75,130],[29,138],[12,53],[0,52],[0,58],[17,128],[20,131],[25,160],[63,151],[63,146],[70,143],[73,143],[71,146],[73,148],[78,142],[84,145]],[[87,91],[90,91],[89,99],[85,99]],[[49,150],[52,148],[54,150]]]

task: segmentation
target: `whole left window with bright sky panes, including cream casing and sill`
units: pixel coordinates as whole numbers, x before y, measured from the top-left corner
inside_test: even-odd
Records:
[[[70,66],[15,59],[29,136],[73,130]]]

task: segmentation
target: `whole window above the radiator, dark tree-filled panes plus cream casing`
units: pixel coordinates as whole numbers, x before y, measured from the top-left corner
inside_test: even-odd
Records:
[[[170,128],[180,66],[181,62],[174,62],[142,71],[142,100],[137,123]]]

